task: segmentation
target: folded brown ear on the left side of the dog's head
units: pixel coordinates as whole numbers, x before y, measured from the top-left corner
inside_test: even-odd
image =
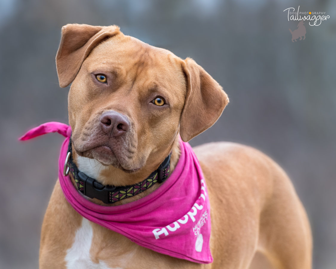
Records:
[[[120,33],[119,27],[67,24],[62,27],[62,37],[56,55],[59,86],[68,86],[77,76],[82,63],[91,50],[103,39]]]

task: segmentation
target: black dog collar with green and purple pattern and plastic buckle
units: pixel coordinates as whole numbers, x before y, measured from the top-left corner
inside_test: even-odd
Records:
[[[169,176],[170,155],[171,154],[169,154],[159,165],[158,169],[153,171],[148,178],[139,183],[121,187],[116,187],[113,185],[102,185],[97,180],[90,178],[78,170],[72,158],[72,143],[70,138],[67,157],[64,163],[63,175],[67,176],[70,172],[75,180],[77,190],[79,190],[85,196],[90,198],[97,198],[106,204],[112,204],[137,195],[149,189],[155,183],[164,182]]]

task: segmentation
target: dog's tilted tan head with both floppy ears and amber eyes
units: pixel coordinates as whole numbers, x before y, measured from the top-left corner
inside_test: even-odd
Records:
[[[194,60],[125,36],[117,26],[64,26],[56,66],[60,86],[72,82],[75,151],[124,172],[157,167],[178,133],[192,139],[228,103]]]

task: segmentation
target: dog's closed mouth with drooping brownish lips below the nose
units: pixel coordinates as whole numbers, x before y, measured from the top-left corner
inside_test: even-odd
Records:
[[[141,167],[125,167],[125,164],[122,164],[122,162],[119,160],[117,155],[115,154],[112,147],[108,145],[99,145],[92,147],[90,149],[86,149],[84,151],[79,151],[76,149],[75,145],[74,148],[79,156],[95,159],[98,162],[100,162],[102,165],[109,166],[112,165],[118,169],[121,169],[122,171],[126,173],[134,173],[141,169]]]

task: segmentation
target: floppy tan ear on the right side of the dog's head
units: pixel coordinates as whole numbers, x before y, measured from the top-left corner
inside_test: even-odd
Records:
[[[222,114],[229,99],[222,87],[193,59],[182,62],[187,91],[180,121],[180,136],[191,140],[211,127]]]

